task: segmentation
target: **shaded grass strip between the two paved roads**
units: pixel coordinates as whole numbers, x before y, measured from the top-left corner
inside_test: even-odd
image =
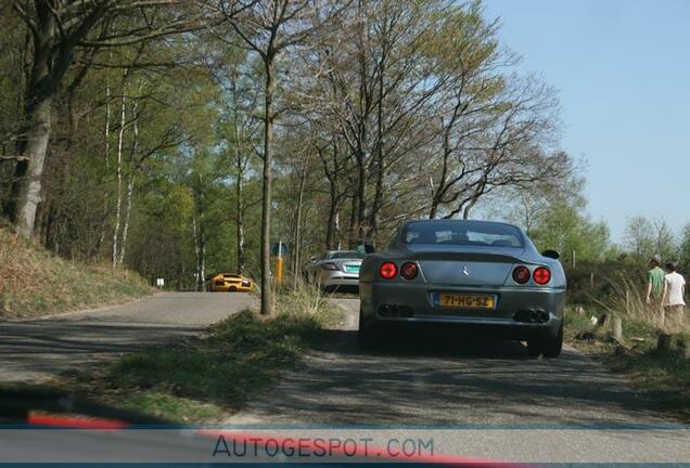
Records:
[[[335,315],[311,292],[282,295],[278,313],[246,310],[199,339],[123,356],[59,381],[112,406],[178,422],[219,422],[294,366]]]

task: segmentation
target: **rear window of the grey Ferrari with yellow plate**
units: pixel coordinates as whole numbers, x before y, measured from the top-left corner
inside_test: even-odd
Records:
[[[419,221],[403,232],[405,244],[456,244],[522,247],[520,230],[509,224],[480,221]]]

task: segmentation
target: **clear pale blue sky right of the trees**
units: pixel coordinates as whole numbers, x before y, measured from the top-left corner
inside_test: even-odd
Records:
[[[520,67],[559,89],[562,146],[585,158],[588,211],[690,222],[690,1],[485,0]]]

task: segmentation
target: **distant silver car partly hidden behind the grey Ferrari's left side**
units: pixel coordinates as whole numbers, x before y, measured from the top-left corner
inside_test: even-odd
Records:
[[[327,292],[359,287],[359,268],[365,256],[357,250],[328,250],[311,258],[307,277]]]

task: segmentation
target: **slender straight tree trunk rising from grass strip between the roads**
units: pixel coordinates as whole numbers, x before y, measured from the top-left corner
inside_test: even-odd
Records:
[[[270,274],[271,242],[271,141],[273,138],[273,55],[267,54],[265,61],[266,89],[264,103],[264,186],[261,200],[261,314],[273,312],[273,296]]]

